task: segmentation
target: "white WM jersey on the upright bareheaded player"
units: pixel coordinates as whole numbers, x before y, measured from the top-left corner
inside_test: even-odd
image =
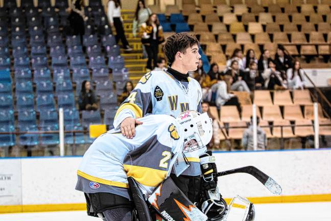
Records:
[[[152,71],[144,75],[130,96],[118,109],[114,128],[119,129],[121,122],[127,117],[141,118],[147,114],[172,115],[194,110],[201,113],[202,92],[198,81],[188,77],[188,82],[181,82],[167,71]],[[206,148],[186,154],[191,166],[184,175],[200,175],[199,156]]]

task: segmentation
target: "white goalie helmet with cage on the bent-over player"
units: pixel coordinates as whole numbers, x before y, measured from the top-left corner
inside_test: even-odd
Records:
[[[207,113],[186,111],[177,117],[177,121],[183,128],[185,143],[191,142],[191,145],[185,145],[185,152],[203,148],[211,140],[212,120]]]

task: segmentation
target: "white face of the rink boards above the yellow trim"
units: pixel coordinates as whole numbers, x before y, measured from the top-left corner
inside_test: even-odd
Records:
[[[331,193],[331,149],[297,151],[217,152],[218,170],[253,165],[270,175],[283,189],[283,195]],[[22,205],[85,203],[75,190],[76,170],[81,157],[0,159],[21,163]],[[0,174],[6,171],[0,167]],[[223,197],[272,196],[247,174],[232,174],[219,179]],[[18,205],[0,201],[0,205]]]

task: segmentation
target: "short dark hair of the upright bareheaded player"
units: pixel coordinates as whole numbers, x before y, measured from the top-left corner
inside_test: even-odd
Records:
[[[175,61],[177,52],[185,54],[186,49],[197,45],[200,48],[200,43],[195,35],[187,33],[177,33],[168,37],[163,51],[168,59],[168,63],[172,64]]]

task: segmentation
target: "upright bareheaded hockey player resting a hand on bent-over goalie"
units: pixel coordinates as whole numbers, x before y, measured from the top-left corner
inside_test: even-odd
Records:
[[[188,72],[198,68],[201,58],[199,47],[197,38],[187,33],[177,33],[168,37],[164,45],[164,54],[169,63],[167,71],[152,71],[140,79],[118,109],[114,128],[121,128],[123,136],[132,139],[135,136],[135,125],[141,124],[137,118],[146,114],[177,117],[187,110],[201,113],[200,84],[188,76]],[[199,153],[187,154],[191,166],[178,178],[172,175],[175,184],[192,202],[199,201],[201,174],[199,157],[205,151],[206,149],[202,149]]]

